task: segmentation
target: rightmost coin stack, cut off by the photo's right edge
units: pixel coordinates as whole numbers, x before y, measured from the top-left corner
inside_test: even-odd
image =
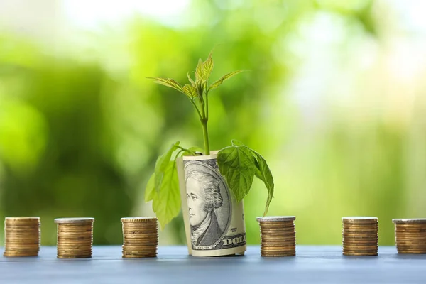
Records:
[[[426,253],[426,219],[393,219],[398,253]]]

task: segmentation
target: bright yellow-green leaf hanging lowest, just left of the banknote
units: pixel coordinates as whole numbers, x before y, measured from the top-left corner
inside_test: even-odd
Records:
[[[160,192],[156,192],[153,198],[153,211],[162,229],[165,224],[178,216],[180,211],[179,181],[175,164],[174,160],[169,161],[165,168]]]

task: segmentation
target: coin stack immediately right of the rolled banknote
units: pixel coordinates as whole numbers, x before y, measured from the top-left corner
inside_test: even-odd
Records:
[[[261,256],[296,255],[295,219],[294,216],[256,218],[261,226]]]

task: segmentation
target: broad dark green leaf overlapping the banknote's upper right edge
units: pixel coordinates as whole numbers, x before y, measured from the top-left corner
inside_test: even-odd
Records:
[[[229,146],[217,153],[217,164],[240,202],[249,193],[256,172],[253,154],[246,146]]]

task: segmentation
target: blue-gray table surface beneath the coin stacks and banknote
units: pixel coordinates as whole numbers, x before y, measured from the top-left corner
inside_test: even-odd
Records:
[[[3,248],[1,248],[3,251]],[[121,258],[121,246],[94,246],[92,258],[0,256],[0,283],[426,283],[426,255],[381,246],[378,256],[342,256],[340,246],[297,246],[297,256],[195,258],[186,246],[160,246],[157,258]]]

